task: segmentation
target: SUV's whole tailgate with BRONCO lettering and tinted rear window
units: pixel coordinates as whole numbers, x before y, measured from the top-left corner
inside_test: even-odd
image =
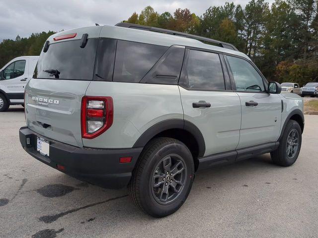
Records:
[[[26,86],[27,126],[45,137],[82,147],[81,99],[93,78],[97,38],[51,41]]]

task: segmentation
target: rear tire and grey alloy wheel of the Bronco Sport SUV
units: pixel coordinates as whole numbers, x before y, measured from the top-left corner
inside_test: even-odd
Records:
[[[145,146],[128,185],[129,193],[143,212],[165,217],[185,202],[193,179],[194,163],[189,149],[179,140],[158,137]]]

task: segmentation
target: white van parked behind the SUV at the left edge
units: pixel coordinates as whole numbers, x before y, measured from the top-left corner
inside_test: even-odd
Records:
[[[18,57],[0,69],[0,112],[10,105],[24,106],[24,87],[32,78],[38,56]]]

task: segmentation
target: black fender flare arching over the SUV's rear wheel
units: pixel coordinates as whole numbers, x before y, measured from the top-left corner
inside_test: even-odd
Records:
[[[154,124],[138,138],[133,147],[144,147],[153,137],[168,129],[183,129],[193,135],[199,147],[198,157],[203,157],[205,153],[204,137],[195,124],[184,119],[167,119]]]

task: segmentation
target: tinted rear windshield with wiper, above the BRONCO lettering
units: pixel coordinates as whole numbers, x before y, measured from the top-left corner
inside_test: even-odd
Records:
[[[88,39],[84,48],[79,47],[80,40],[50,44],[48,51],[41,53],[33,77],[92,80],[97,41]]]

